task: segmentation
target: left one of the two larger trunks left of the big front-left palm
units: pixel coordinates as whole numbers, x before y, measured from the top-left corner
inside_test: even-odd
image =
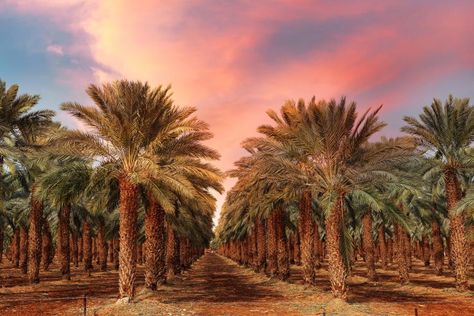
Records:
[[[31,193],[30,227],[28,229],[28,280],[39,283],[41,263],[41,243],[43,227],[43,205],[35,198],[35,189]]]

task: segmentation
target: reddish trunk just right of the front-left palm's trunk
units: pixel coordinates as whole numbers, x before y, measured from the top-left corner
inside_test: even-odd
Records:
[[[156,290],[165,282],[165,212],[149,195],[145,213],[145,286]]]

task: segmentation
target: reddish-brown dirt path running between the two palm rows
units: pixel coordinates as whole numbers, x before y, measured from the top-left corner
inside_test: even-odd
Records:
[[[171,289],[171,288],[168,288]],[[246,271],[216,254],[207,254],[162,296],[161,302],[207,315],[291,313],[272,281]]]

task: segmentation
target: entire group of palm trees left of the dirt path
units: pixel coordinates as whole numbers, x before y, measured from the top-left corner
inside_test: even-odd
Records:
[[[223,175],[209,161],[219,154],[203,144],[208,125],[195,108],[176,106],[169,87],[115,81],[87,94],[94,106],[61,105],[84,126],[70,130],[54,112],[32,110],[38,96],[0,81],[0,254],[8,248],[37,283],[42,252],[51,262],[55,240],[65,279],[79,245],[86,271],[94,244],[102,270],[112,248],[120,297],[129,301],[137,255],[155,290],[213,238],[211,193],[222,192]]]

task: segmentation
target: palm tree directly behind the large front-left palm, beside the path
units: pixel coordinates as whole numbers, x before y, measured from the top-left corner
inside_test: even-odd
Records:
[[[207,190],[212,188],[217,192],[223,191],[219,170],[200,161],[219,158],[216,151],[201,143],[210,139],[212,134],[208,131],[207,124],[188,116],[188,113],[181,113],[172,123],[176,127],[186,126],[186,129],[176,128],[174,132],[160,135],[161,139],[156,141],[159,145],[155,149],[153,160],[165,177],[156,177],[159,180],[153,183],[155,194],[148,192],[146,196],[145,285],[152,290],[156,289],[157,284],[164,282],[165,212],[175,212],[176,203],[173,201],[176,200],[187,205],[199,204],[201,201],[201,210],[207,209]],[[168,120],[167,117],[163,118]],[[173,183],[166,180],[169,177],[174,179]],[[173,237],[170,225],[167,231]],[[174,238],[169,240],[173,243],[175,241]],[[168,249],[172,250],[174,246]]]

